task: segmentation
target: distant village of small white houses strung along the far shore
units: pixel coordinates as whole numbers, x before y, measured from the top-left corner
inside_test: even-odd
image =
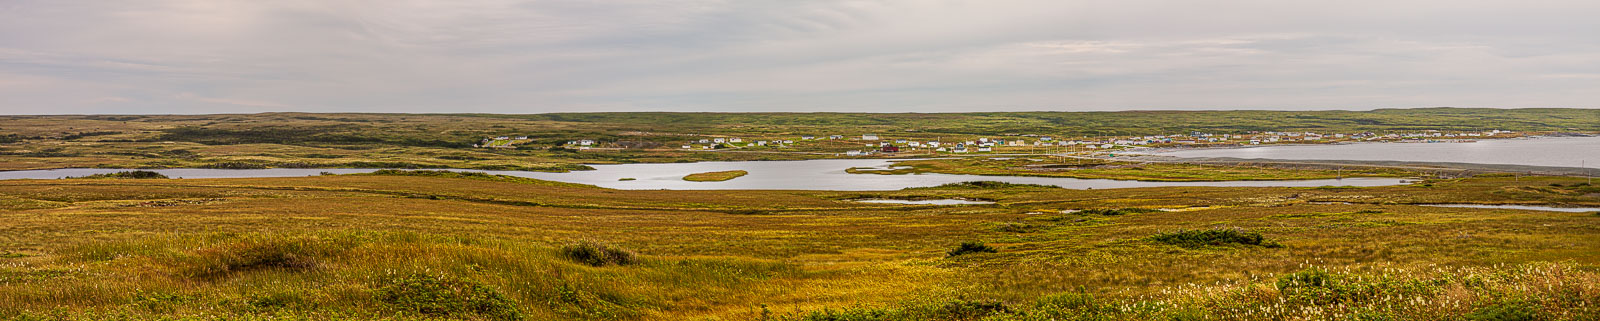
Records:
[[[694,134],[683,134],[694,136]],[[1160,134],[1160,136],[1120,136],[1120,137],[1074,137],[1059,139],[1043,134],[1006,134],[1000,137],[925,137],[925,134],[907,134],[907,137],[886,137],[880,134],[802,134],[790,137],[731,137],[701,136],[685,141],[675,150],[690,152],[806,152],[832,153],[837,157],[867,155],[968,155],[968,153],[1070,153],[1070,152],[1106,152],[1139,147],[1238,147],[1264,144],[1338,144],[1338,142],[1472,142],[1475,139],[1522,137],[1515,131],[1416,131],[1416,133],[1306,133],[1306,131],[1251,131],[1242,134]],[[475,149],[547,149],[534,144],[528,136],[496,136],[485,137]],[[557,145],[570,150],[621,150],[618,142],[600,139],[576,139]],[[662,145],[662,150],[670,145]]]

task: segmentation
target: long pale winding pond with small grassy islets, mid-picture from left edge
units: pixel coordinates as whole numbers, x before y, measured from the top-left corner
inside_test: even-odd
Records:
[[[1128,187],[1323,187],[1323,185],[1398,185],[1402,179],[1322,179],[1322,180],[1230,180],[1230,182],[1139,182],[1110,179],[1066,177],[1016,177],[1016,176],[952,176],[952,174],[848,174],[848,168],[886,168],[886,160],[806,160],[806,161],[706,161],[669,164],[592,164],[595,171],[574,172],[526,172],[526,171],[477,171],[533,177],[558,182],[589,184],[619,190],[899,190],[906,187],[933,187],[952,182],[998,180],[1011,184],[1042,184],[1066,188],[1128,188]],[[744,169],[749,176],[723,182],[688,182],[683,176],[707,171]],[[0,171],[0,179],[59,179],[117,172],[118,169],[78,168],[53,171]],[[318,172],[370,172],[376,169],[154,169],[170,177],[294,177]],[[634,180],[619,180],[634,179]]]

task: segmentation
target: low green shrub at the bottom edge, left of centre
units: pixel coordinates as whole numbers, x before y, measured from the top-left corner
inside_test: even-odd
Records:
[[[451,319],[523,319],[517,302],[494,287],[472,279],[405,275],[386,279],[373,295],[394,311],[406,315]]]

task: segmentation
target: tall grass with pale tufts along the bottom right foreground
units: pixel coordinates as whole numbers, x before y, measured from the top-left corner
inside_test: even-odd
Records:
[[[947,299],[824,308],[792,321],[1046,319],[1600,319],[1600,273],[1576,264],[1346,273],[1307,268],[1270,283],[1190,284],[1157,295],[1061,292],[1032,302]]]

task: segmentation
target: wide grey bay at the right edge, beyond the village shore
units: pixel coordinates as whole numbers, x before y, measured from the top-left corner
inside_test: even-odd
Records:
[[[1485,139],[1477,142],[1370,142],[1155,152],[1166,157],[1267,160],[1450,161],[1578,168],[1600,164],[1600,137]]]

